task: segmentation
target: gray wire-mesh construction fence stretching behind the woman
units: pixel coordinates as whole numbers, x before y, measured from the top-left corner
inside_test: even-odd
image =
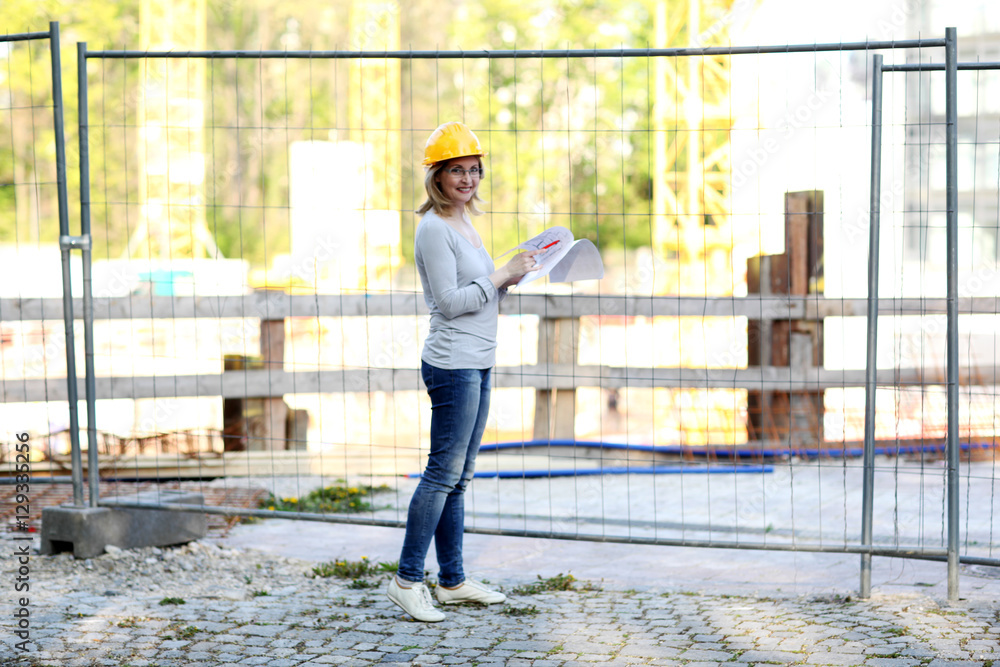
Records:
[[[79,44],[77,60],[80,226],[71,235],[62,224],[60,195],[62,295],[0,299],[5,326],[64,323],[65,373],[5,365],[3,392],[8,405],[48,406],[49,423],[29,429],[45,448],[35,469],[68,466],[77,506],[191,510],[123,484],[138,480],[202,492],[198,509],[221,517],[405,525],[429,404],[419,377],[427,309],[400,248],[422,199],[422,142],[457,117],[490,152],[483,185],[494,207],[477,225],[491,254],[507,249],[494,242],[505,234],[523,242],[591,221],[579,231],[594,230],[610,276],[596,288],[522,287],[502,304],[468,532],[860,554],[864,596],[872,556],[946,561],[953,598],[960,566],[1000,565],[997,364],[979,352],[996,338],[983,318],[1000,312],[997,186],[973,169],[960,201],[958,166],[969,154],[961,164],[988,163],[1000,145],[978,121],[978,97],[958,94],[986,85],[958,77],[995,67],[960,63],[953,29],[942,39],[614,51]],[[756,116],[734,120],[740,96],[756,93],[724,74],[756,73],[762,95],[778,70],[793,73],[784,98],[774,93],[783,114],[764,118],[758,102]],[[54,64],[54,91],[57,81]],[[197,92],[201,81],[207,91]],[[728,95],[711,98],[710,83]],[[332,116],[312,110],[317,90],[334,96]],[[397,90],[409,118],[380,124],[376,102]],[[61,102],[53,107],[58,138]],[[713,141],[718,150],[706,150]],[[293,233],[293,218],[332,206],[294,201],[303,195],[290,155],[313,149],[359,156],[360,205],[340,225],[328,216],[326,228]],[[380,151],[402,159],[377,167]],[[686,171],[695,161],[701,171]],[[56,162],[64,193],[65,158]],[[314,167],[302,182],[336,189],[331,173],[317,180]],[[965,195],[973,212],[960,222]],[[291,270],[252,279],[237,267],[229,289],[222,273],[171,254],[186,242],[218,258],[226,234],[233,261]],[[959,250],[983,239],[992,255],[960,263]],[[336,261],[324,273],[326,248]],[[218,289],[201,289],[206,280]],[[66,406],[65,428],[53,429],[51,411]],[[237,490],[253,493],[227,502]]]

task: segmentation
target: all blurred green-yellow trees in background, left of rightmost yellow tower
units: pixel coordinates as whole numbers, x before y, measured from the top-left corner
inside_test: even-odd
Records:
[[[7,33],[43,31],[58,20],[64,47],[135,48],[140,0],[5,0]],[[377,26],[351,23],[350,0],[208,0],[209,49],[374,49]],[[502,50],[644,47],[650,4],[626,0],[499,0],[459,3],[446,14],[431,0],[399,4],[401,48]],[[54,243],[53,193],[38,211],[13,184],[50,182],[52,149],[48,49],[18,43],[0,71],[10,106],[36,109],[0,128],[0,242]],[[79,210],[76,51],[62,49],[67,178],[71,224]],[[291,247],[288,146],[303,140],[356,140],[348,104],[359,94],[347,60],[211,59],[204,66],[205,184],[199,219],[226,257],[252,268]],[[172,76],[199,70],[179,62]],[[128,249],[141,224],[137,173],[146,95],[169,87],[158,65],[143,59],[88,62],[89,165],[94,258],[143,254]],[[183,69],[193,67],[193,69]],[[652,169],[648,119],[649,63],[643,59],[412,59],[400,62],[403,127],[400,193],[404,261],[412,257],[415,217],[423,201],[423,142],[441,122],[464,120],[490,152],[481,189],[487,215],[476,221],[492,254],[551,225],[564,225],[602,250],[650,243]],[[352,87],[353,86],[353,87]],[[378,93],[366,92],[365,104]],[[683,159],[683,156],[681,156]],[[15,205],[14,198],[21,201]],[[187,195],[184,195],[187,196]],[[39,221],[37,228],[30,228]],[[337,221],[331,220],[331,225]],[[155,230],[154,230],[155,233]],[[331,510],[332,511],[332,510]],[[341,510],[337,510],[341,511]],[[343,510],[350,511],[350,510]]]

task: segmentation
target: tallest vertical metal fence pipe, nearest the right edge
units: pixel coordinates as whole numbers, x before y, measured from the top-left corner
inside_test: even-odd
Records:
[[[948,599],[958,600],[958,44],[945,29],[945,237],[948,275]]]

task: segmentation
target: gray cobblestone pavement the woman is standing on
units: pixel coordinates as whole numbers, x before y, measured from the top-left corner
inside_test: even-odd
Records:
[[[567,579],[527,575],[492,582],[504,605],[447,607],[444,622],[426,624],[388,602],[384,574],[315,577],[316,565],[211,541],[87,561],[32,556],[30,651],[15,648],[12,602],[0,664],[1000,665],[1000,603],[989,595],[542,590]]]

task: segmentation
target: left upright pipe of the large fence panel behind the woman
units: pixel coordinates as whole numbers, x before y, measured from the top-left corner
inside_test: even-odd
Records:
[[[87,399],[87,483],[90,506],[100,498],[100,466],[97,460],[97,386],[94,373],[94,289],[91,278],[90,245],[90,114],[87,108],[87,43],[77,42],[76,73],[80,124],[80,234],[83,237],[83,349]]]

